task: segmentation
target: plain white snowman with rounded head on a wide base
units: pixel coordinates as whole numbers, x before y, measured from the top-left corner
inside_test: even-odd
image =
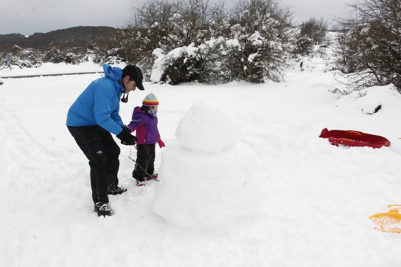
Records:
[[[229,223],[257,213],[263,192],[255,152],[241,124],[219,107],[195,103],[162,155],[152,209],[181,226]]]

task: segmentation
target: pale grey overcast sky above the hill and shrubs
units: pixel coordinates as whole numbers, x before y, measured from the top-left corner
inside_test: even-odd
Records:
[[[119,28],[130,18],[131,6],[145,0],[1,0],[0,34],[50,32],[75,26],[111,26]],[[353,0],[282,0],[293,6],[299,22],[311,16],[345,16],[345,3]],[[228,0],[227,6],[233,6]],[[329,26],[331,28],[331,26]]]

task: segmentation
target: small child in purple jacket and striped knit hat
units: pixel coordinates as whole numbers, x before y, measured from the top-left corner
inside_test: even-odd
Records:
[[[136,179],[137,186],[144,186],[144,181],[157,178],[154,174],[154,158],[156,142],[159,147],[166,147],[160,139],[157,129],[157,108],[159,101],[153,93],[147,94],[142,106],[134,108],[132,121],[128,124],[131,132],[136,130],[138,151],[136,153],[135,169],[132,177]]]

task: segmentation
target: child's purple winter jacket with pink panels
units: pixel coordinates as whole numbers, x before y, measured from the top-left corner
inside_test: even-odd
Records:
[[[152,116],[148,112],[144,112],[139,106],[134,108],[132,120],[127,125],[131,132],[136,130],[137,144],[156,144],[160,138],[159,130],[157,129],[157,116]]]

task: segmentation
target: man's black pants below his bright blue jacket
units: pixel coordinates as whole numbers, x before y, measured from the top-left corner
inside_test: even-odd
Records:
[[[111,134],[100,126],[67,126],[91,167],[91,188],[93,203],[108,203],[107,175],[113,175],[118,184],[118,156],[120,148]]]

